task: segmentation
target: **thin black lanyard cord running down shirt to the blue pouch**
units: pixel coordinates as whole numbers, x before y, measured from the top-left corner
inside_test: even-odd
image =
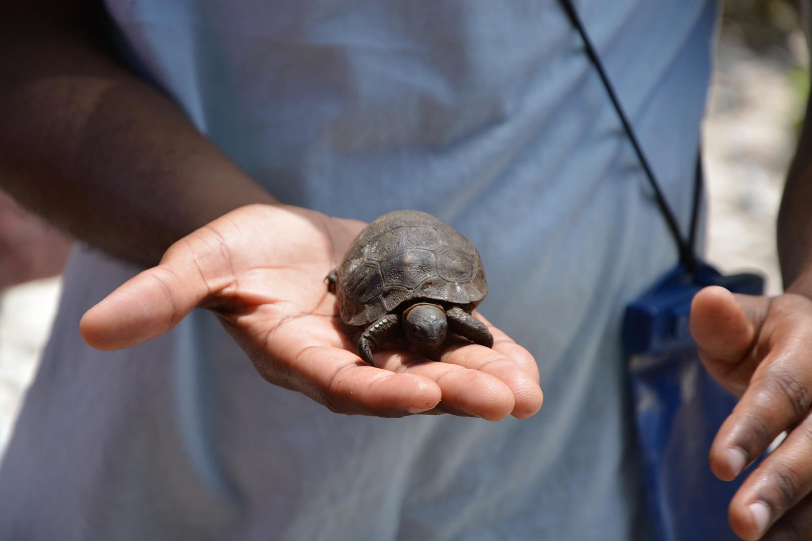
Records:
[[[680,234],[680,225],[676,221],[676,217],[674,217],[671,207],[668,206],[668,202],[663,195],[663,191],[660,190],[659,183],[657,182],[656,178],[654,178],[654,170],[651,169],[649,161],[646,159],[646,155],[643,153],[640,143],[637,140],[637,135],[635,135],[631,123],[628,122],[628,118],[626,117],[623,106],[620,105],[620,100],[617,97],[615,88],[609,81],[606,70],[603,68],[603,62],[601,62],[600,57],[598,57],[598,53],[595,51],[595,48],[592,45],[592,41],[586,34],[584,24],[581,22],[581,18],[578,16],[575,6],[572,5],[572,0],[561,0],[561,5],[564,7],[564,11],[570,19],[572,26],[574,26],[581,35],[581,40],[584,42],[586,49],[586,55],[590,58],[590,61],[592,61],[595,70],[598,71],[598,75],[600,75],[600,78],[603,81],[603,86],[607,89],[607,94],[609,94],[609,99],[611,100],[612,105],[615,105],[615,110],[617,111],[618,117],[620,117],[620,122],[623,124],[626,135],[628,135],[628,140],[631,141],[634,152],[637,153],[637,158],[640,160],[640,165],[642,165],[643,170],[646,172],[646,178],[648,178],[651,188],[654,190],[654,199],[657,201],[657,206],[663,213],[663,217],[668,225],[668,229],[671,231],[672,237],[676,242],[677,250],[680,251],[680,263],[685,264],[685,267],[688,268],[689,272],[693,272],[693,268],[696,266],[696,255],[693,247],[695,246],[696,242],[699,199],[702,192],[702,159],[701,157],[698,157],[697,161],[696,185],[694,187],[693,194],[693,212],[691,214],[691,229],[689,238],[686,241],[685,238],[682,237],[682,234]]]

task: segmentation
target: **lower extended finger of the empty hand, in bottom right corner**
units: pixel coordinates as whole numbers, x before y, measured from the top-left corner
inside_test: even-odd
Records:
[[[806,513],[791,513],[781,521],[784,513],[794,509],[812,491],[812,417],[806,418],[789,433],[779,448],[758,465],[745,479],[733,496],[728,515],[736,535],[742,539],[761,539],[767,528],[776,522],[783,526],[784,534],[792,534],[790,526],[810,521]],[[809,513],[809,509],[806,511]],[[796,532],[797,533],[797,532]],[[786,539],[810,539],[806,537]]]

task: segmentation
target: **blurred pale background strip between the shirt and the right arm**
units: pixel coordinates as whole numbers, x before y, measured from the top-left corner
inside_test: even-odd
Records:
[[[728,0],[704,125],[706,257],[781,292],[775,217],[809,93],[797,0]]]

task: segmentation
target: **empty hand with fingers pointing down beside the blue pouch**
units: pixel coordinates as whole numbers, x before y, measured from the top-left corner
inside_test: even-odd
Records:
[[[742,539],[812,539],[812,301],[711,286],[693,299],[691,333],[708,371],[741,399],[711,447],[711,470],[734,479],[782,432],[728,509]]]

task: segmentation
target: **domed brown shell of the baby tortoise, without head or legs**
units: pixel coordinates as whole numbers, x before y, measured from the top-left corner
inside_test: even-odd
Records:
[[[473,243],[446,222],[417,210],[397,210],[367,225],[335,275],[341,319],[356,327],[413,298],[470,310],[487,293]]]

